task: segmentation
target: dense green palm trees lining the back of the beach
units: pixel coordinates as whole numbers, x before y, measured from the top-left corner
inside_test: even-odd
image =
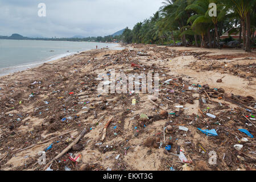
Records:
[[[217,16],[209,16],[210,3]],[[166,0],[150,19],[126,28],[121,39],[126,43],[194,44],[220,48],[220,36],[236,27],[239,43],[250,52],[255,45],[256,0]],[[235,28],[235,29],[236,29]]]

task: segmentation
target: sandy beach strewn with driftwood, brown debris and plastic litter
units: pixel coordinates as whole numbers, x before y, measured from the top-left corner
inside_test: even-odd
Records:
[[[133,63],[141,67],[131,67]],[[93,49],[2,76],[0,170],[43,170],[46,165],[38,164],[38,153],[52,144],[46,151],[46,164],[51,162],[84,129],[76,147],[53,160],[51,169],[255,170],[255,139],[238,130],[256,134],[256,122],[250,117],[256,110],[255,67],[255,50],[130,44],[120,51]],[[159,97],[151,100],[156,105],[149,101],[150,94],[99,94],[98,75],[110,69],[159,73]],[[148,118],[140,118],[141,114]],[[207,136],[198,128],[215,129],[218,136]],[[53,137],[57,138],[49,140]],[[243,148],[237,150],[235,144]],[[215,165],[208,163],[210,151],[216,151]],[[79,155],[79,162],[69,158]]]

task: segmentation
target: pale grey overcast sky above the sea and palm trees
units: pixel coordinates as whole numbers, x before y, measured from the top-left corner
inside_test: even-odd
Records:
[[[164,0],[0,0],[0,35],[105,36],[150,18]],[[46,17],[38,16],[39,3]]]

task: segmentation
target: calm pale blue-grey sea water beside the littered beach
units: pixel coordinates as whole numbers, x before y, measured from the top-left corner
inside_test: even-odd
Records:
[[[90,49],[122,49],[114,43],[0,39],[0,76]]]

